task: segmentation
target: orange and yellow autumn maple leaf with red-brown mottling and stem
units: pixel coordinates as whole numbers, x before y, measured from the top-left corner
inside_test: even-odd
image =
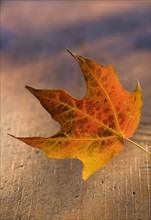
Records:
[[[113,66],[103,66],[70,50],[68,52],[81,67],[87,84],[86,96],[78,100],[64,90],[39,90],[26,86],[60,123],[61,129],[48,138],[17,139],[45,151],[48,158],[79,159],[83,163],[84,180],[117,155],[123,149],[124,140],[150,154],[128,139],[134,134],[141,117],[139,83],[134,92],[128,92],[120,84]]]

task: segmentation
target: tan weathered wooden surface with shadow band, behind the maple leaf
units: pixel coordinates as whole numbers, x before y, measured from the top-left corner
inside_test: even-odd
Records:
[[[151,219],[151,159],[135,146],[125,143],[119,156],[83,181],[80,161],[47,159],[7,135],[46,137],[59,128],[26,84],[84,96],[69,47],[114,64],[129,90],[139,79],[144,108],[133,140],[151,151],[149,10],[149,1],[2,4],[1,220]]]

